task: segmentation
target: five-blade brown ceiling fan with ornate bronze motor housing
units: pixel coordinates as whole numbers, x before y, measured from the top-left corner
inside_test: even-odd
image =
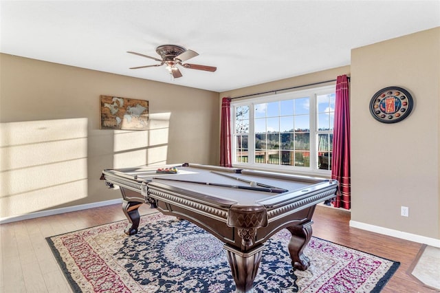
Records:
[[[193,58],[199,54],[197,52],[192,51],[192,50],[186,50],[184,47],[181,47],[179,45],[160,45],[159,47],[156,48],[156,52],[157,52],[157,54],[159,54],[162,57],[162,60],[159,58],[147,56],[147,55],[136,53],[136,52],[127,52],[130,54],[135,54],[137,56],[150,58],[150,59],[153,59],[155,61],[160,62],[160,64],[131,67],[130,69],[157,67],[157,66],[162,66],[162,65],[166,64],[166,69],[168,69],[168,71],[170,72],[170,74],[173,75],[174,78],[179,78],[182,76],[177,65],[180,65],[181,67],[189,68],[189,69],[205,70],[207,72],[215,72],[217,70],[217,67],[190,64],[190,63],[182,63],[182,62],[185,62],[188,59]]]

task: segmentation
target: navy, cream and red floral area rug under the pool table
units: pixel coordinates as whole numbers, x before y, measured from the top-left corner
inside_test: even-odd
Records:
[[[74,292],[235,292],[223,243],[160,213],[48,237]],[[290,233],[266,242],[254,292],[380,292],[399,263],[312,237],[307,271],[292,270]]]

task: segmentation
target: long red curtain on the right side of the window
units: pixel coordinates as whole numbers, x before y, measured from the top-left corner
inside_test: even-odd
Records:
[[[340,183],[340,193],[333,205],[336,208],[351,208],[350,175],[350,106],[349,78],[338,76],[336,80],[335,120],[333,124],[333,157],[331,178]]]

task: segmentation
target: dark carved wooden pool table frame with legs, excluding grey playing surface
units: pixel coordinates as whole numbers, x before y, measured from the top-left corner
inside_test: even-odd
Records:
[[[203,195],[173,186],[173,182],[144,180],[123,169],[102,171],[101,180],[109,187],[120,187],[122,210],[129,219],[127,235],[137,233],[142,204],[151,204],[166,215],[186,219],[223,241],[236,292],[253,292],[253,283],[261,261],[264,242],[283,228],[291,232],[289,254],[292,266],[299,270],[309,268],[309,259],[303,250],[312,234],[312,216],[316,204],[336,196],[338,182],[312,177],[270,173],[263,171],[182,164],[191,168],[209,169],[225,173],[244,173],[280,180],[306,180],[310,183],[300,191],[288,191],[268,197],[258,203],[243,206],[231,199]],[[157,180],[159,181],[159,180]]]

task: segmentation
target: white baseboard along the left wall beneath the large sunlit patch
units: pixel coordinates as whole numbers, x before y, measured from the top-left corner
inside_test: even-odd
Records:
[[[74,212],[76,210],[87,210],[87,208],[98,208],[98,206],[109,206],[111,204],[120,204],[120,203],[122,203],[122,198],[106,200],[104,202],[94,202],[91,204],[80,204],[78,206],[68,206],[66,208],[55,208],[53,210],[41,210],[39,212],[25,214],[25,215],[0,218],[0,224],[11,223],[13,221],[23,221],[25,219],[34,219],[38,217],[69,213],[69,212]]]

